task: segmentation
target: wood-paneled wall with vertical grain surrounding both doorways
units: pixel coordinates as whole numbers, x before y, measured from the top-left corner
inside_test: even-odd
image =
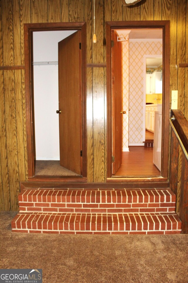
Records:
[[[106,21],[170,20],[170,90],[178,90],[178,107],[188,119],[188,69],[176,68],[177,64],[188,62],[187,2],[188,0],[142,0],[134,6],[125,7],[120,0],[95,0],[97,43],[93,44],[92,0],[0,1],[1,210],[18,209],[19,181],[27,178],[24,23],[85,21],[87,63],[105,63]],[[87,147],[88,182],[104,182],[106,70],[101,67],[87,68]]]

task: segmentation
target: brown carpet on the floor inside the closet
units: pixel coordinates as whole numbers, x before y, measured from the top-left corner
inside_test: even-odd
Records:
[[[35,175],[44,176],[79,176],[62,167],[59,160],[36,160]]]

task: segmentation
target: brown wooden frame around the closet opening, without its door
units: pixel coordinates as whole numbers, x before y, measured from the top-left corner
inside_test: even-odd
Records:
[[[81,33],[81,124],[82,124],[82,176],[35,176],[35,123],[34,123],[34,93],[33,93],[33,32],[78,30]],[[24,55],[25,55],[25,95],[26,95],[26,135],[28,157],[28,180],[48,181],[78,181],[87,177],[87,133],[86,133],[86,23],[34,23],[24,24]],[[85,181],[85,180],[84,180]]]

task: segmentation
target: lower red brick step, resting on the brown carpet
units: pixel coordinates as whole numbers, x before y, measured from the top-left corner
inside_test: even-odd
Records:
[[[12,231],[64,234],[181,233],[175,213],[18,213]]]

